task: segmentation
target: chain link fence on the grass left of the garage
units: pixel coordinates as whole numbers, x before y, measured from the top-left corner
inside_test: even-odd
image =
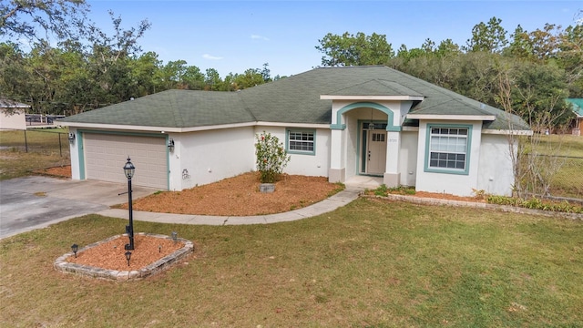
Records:
[[[0,130],[0,149],[69,158],[68,133],[62,128]]]

